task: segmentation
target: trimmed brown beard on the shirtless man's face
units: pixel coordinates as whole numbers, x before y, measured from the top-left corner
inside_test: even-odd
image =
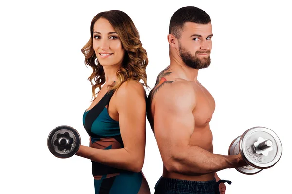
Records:
[[[208,57],[204,57],[202,59],[199,59],[198,57],[192,55],[190,52],[188,52],[185,48],[182,47],[182,45],[179,43],[179,54],[182,58],[183,62],[193,68],[193,69],[204,69],[207,68],[211,64],[211,58],[210,58],[210,50],[202,52],[197,51],[196,54],[202,54],[202,53],[208,53]]]

